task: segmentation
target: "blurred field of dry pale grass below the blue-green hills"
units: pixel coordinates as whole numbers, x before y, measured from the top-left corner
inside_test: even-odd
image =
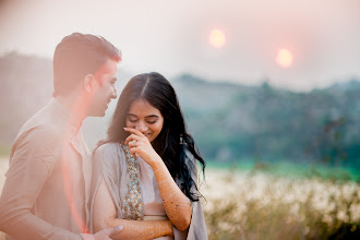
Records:
[[[7,169],[2,157],[0,190]],[[360,239],[357,181],[209,166],[201,191],[211,240]]]

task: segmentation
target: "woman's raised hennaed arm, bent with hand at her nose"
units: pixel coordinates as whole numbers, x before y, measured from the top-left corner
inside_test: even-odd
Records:
[[[155,152],[148,139],[139,130],[125,128],[132,133],[125,141],[133,155],[139,154],[154,170],[166,214],[176,228],[183,231],[190,226],[192,205],[173,181],[168,168]],[[131,142],[136,141],[136,142]]]

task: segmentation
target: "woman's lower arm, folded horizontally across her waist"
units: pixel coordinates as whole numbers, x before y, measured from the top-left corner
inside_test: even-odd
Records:
[[[172,236],[172,225],[169,220],[125,220],[117,218],[117,209],[109,189],[104,179],[98,187],[94,200],[94,231],[123,226],[123,230],[112,236],[113,239],[155,239],[161,236]]]

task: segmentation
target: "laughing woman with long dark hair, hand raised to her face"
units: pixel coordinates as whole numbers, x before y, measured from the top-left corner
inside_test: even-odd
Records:
[[[159,73],[130,80],[93,159],[93,230],[116,239],[207,239],[196,164],[176,93]]]

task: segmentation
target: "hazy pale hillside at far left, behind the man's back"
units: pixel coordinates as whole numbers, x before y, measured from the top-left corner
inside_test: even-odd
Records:
[[[11,145],[19,129],[52,94],[52,63],[10,52],[0,58],[0,144]]]

